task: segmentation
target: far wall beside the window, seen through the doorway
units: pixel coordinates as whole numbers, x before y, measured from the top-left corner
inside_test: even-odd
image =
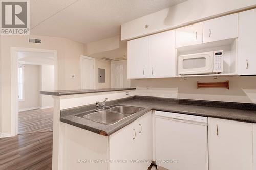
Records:
[[[19,101],[19,110],[39,107],[39,67],[24,65],[24,101]]]

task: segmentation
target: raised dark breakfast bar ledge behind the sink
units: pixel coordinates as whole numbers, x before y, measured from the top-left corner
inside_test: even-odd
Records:
[[[55,90],[55,91],[40,91],[40,94],[60,96],[60,95],[99,93],[99,92],[109,92],[109,91],[135,90],[135,89],[136,88],[99,88],[99,89],[84,89],[84,90]]]

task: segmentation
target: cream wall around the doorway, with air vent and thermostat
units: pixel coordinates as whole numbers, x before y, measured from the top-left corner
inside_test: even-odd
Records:
[[[11,79],[10,79],[10,48],[40,48],[56,50],[58,55],[58,89],[79,89],[80,88],[80,55],[83,54],[81,43],[66,38],[46,36],[0,36],[0,58],[1,66],[1,131],[11,132]],[[28,38],[42,39],[42,44],[28,43]],[[74,79],[70,74],[75,74]]]

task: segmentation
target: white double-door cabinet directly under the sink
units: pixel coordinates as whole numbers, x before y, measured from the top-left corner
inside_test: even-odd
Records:
[[[109,136],[109,170],[143,170],[152,160],[152,111]]]

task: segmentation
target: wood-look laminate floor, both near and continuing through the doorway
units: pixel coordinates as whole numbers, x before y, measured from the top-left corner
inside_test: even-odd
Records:
[[[0,138],[0,170],[52,169],[53,109],[19,112],[19,134]]]

